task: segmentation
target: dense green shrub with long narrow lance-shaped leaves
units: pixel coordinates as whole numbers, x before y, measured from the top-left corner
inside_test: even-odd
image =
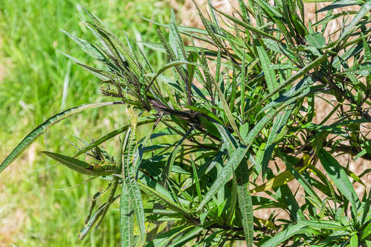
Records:
[[[332,14],[347,5],[361,8]],[[212,21],[199,11],[205,30],[176,25],[174,14],[169,25],[156,23],[168,38],[157,30],[161,44],[140,45],[168,55],[157,72],[140,45],[122,42],[89,13],[85,25],[100,45],[66,34],[104,66],[66,56],[100,78],[102,94],[118,101],[54,115],[23,139],[0,172],[58,121],[127,104],[130,125],[73,156],[44,152],[76,172],[109,180],[108,198],[94,209],[104,191],[94,195],[80,239],[120,198],[122,246],[370,246],[371,191],[362,182],[369,169],[357,176],[334,156],[371,159],[361,129],[371,120],[371,1],[331,3],[318,10],[327,13],[324,19],[308,25],[302,1],[241,0],[239,7],[229,16],[210,5]],[[343,20],[339,38],[326,39],[334,19]],[[210,48],[186,46],[181,35]],[[324,95],[337,100],[316,124],[315,102]],[[326,125],[328,119],[333,124]],[[148,132],[138,139],[144,125]],[[117,154],[104,151],[101,144],[118,135]],[[158,141],[170,136],[177,141]],[[90,161],[77,159],[81,154]],[[273,161],[286,170],[273,169]],[[366,187],[361,200],[350,178]],[[291,180],[304,194],[287,185]],[[274,211],[260,219],[258,209]]]

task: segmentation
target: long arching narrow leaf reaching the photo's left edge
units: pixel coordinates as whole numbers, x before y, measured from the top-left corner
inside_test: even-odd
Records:
[[[59,121],[70,117],[76,113],[80,113],[82,110],[87,110],[90,108],[100,107],[100,106],[109,106],[112,104],[122,104],[122,102],[102,102],[102,103],[95,103],[95,104],[85,104],[81,106],[76,106],[74,108],[69,108],[61,113],[54,115],[47,119],[43,124],[37,126],[30,134],[19,143],[16,148],[5,158],[3,163],[0,165],[0,172],[3,171],[10,163],[12,163],[26,148],[28,148],[38,137],[41,136],[50,126],[57,124]]]

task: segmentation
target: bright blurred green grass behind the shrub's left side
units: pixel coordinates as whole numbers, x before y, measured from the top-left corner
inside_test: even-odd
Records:
[[[107,101],[100,96],[99,81],[93,75],[56,51],[60,49],[94,64],[59,31],[94,40],[80,22],[79,18],[85,19],[86,15],[78,4],[99,16],[120,38],[126,30],[131,38],[155,42],[155,27],[135,14],[161,23],[168,23],[170,16],[168,1],[1,0],[0,161],[25,134],[60,110]],[[166,62],[161,54],[146,52],[157,67]],[[74,142],[74,135],[91,141],[123,126],[124,116],[122,106],[113,106],[71,117],[52,127],[5,169],[0,176],[0,247],[117,246],[117,204],[97,231],[78,241],[90,200],[106,183],[83,183],[87,176],[57,165],[40,151],[74,154],[74,148],[63,136]],[[107,148],[112,150],[112,146]],[[76,186],[80,183],[83,184]],[[104,199],[98,203],[102,202]]]

